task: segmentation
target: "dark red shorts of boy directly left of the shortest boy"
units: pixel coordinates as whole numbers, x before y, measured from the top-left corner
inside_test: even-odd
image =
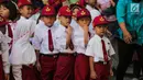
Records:
[[[78,54],[75,61],[75,80],[89,80],[89,58],[84,54]]]

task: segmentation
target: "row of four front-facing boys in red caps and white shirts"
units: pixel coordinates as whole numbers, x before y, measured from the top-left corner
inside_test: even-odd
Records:
[[[112,76],[110,58],[114,50],[110,41],[103,36],[107,31],[106,24],[109,22],[103,16],[95,19],[94,27],[97,34],[91,38],[94,39],[90,41],[91,44],[90,42],[88,44],[88,25],[91,20],[88,10],[81,9],[77,12],[78,26],[74,27],[70,26],[72,12],[68,7],[59,9],[58,26],[54,24],[54,12],[50,5],[42,10],[41,21],[33,38],[33,44],[40,55],[37,67],[42,79],[74,80],[75,76],[75,80],[89,80],[89,75],[91,75],[91,79],[107,80],[109,75]],[[70,41],[73,41],[73,46]],[[96,64],[95,68],[94,64]]]

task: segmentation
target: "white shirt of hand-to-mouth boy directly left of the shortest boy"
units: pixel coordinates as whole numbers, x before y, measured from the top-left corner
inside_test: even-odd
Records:
[[[84,37],[84,30],[81,26],[76,26],[73,31],[73,44],[74,44],[74,50],[78,54],[85,54],[86,53],[86,45],[85,45],[85,37]]]

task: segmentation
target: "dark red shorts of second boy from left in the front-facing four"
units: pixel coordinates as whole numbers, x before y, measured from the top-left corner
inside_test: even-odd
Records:
[[[54,80],[74,80],[74,55],[59,55]]]

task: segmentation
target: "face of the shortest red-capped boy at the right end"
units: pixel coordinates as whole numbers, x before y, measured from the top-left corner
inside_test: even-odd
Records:
[[[99,26],[96,26],[94,30],[97,35],[103,36],[105,33],[107,32],[107,25],[99,25]]]

